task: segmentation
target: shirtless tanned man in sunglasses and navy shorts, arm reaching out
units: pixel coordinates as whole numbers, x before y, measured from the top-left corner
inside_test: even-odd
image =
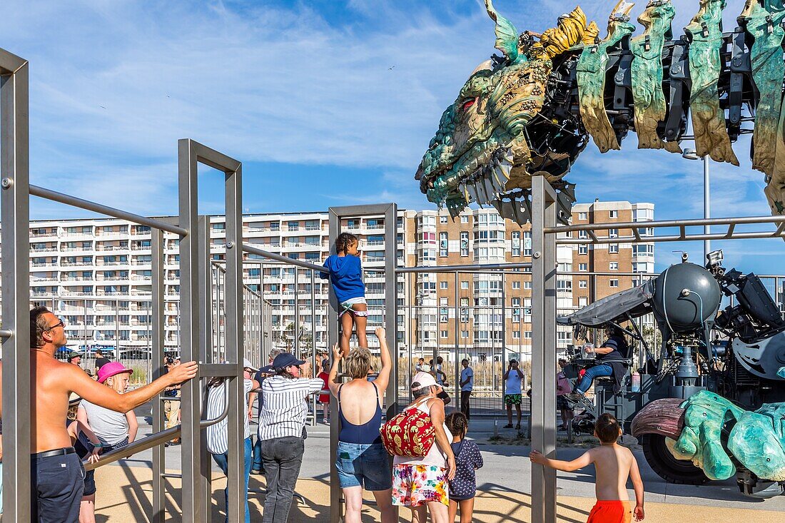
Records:
[[[167,386],[194,378],[198,370],[192,361],[144,387],[118,394],[93,381],[76,365],[55,359],[55,351],[68,342],[64,327],[63,321],[46,307],[30,311],[31,449],[34,452],[31,455],[31,519],[46,523],[79,521],[85,472],[71,447],[66,427],[68,395],[75,392],[90,403],[127,412]]]

